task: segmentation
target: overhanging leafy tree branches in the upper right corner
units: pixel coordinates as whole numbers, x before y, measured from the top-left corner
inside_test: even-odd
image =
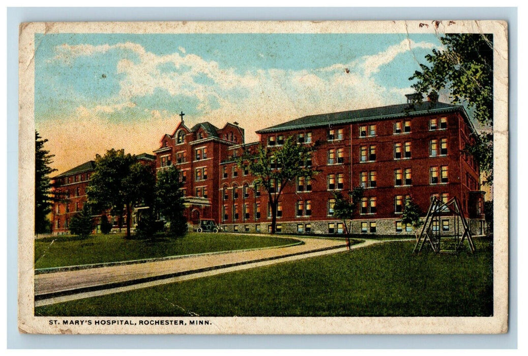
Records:
[[[493,36],[491,34],[446,34],[444,48],[426,55],[430,65],[420,64],[409,80],[422,96],[431,90],[447,90],[454,104],[467,104],[480,130],[465,150],[472,154],[493,183]]]

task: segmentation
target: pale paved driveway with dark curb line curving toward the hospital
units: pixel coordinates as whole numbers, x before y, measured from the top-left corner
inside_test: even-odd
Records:
[[[35,275],[35,296],[40,299],[35,302],[35,306],[124,292],[346,250],[342,240],[303,238],[299,240],[304,241],[304,245]],[[381,241],[366,240],[352,248],[379,242]]]

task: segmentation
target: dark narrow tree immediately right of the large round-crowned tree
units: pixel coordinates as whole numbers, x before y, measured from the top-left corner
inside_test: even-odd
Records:
[[[169,231],[175,236],[183,236],[187,232],[187,219],[183,215],[183,182],[181,173],[175,166],[160,170],[156,181],[156,209],[169,222]]]

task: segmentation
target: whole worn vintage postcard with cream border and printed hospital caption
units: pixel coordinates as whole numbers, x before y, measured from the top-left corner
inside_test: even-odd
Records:
[[[21,333],[507,332],[507,23],[23,23],[19,57]]]

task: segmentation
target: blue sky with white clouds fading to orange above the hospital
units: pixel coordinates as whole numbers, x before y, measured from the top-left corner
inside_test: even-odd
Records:
[[[185,125],[258,129],[406,102],[433,34],[36,34],[35,124],[58,172]],[[445,98],[447,99],[447,98]],[[441,101],[442,96],[440,97]]]

